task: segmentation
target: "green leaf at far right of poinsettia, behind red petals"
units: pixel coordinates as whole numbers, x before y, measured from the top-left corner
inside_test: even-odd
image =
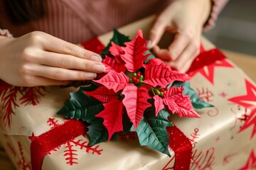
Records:
[[[196,91],[194,91],[189,81],[181,82],[181,81],[175,81],[172,86],[182,86],[183,89],[183,95],[188,95],[191,98],[191,103],[193,108],[208,108],[208,107],[214,107],[210,103],[206,103],[204,101],[201,101]]]

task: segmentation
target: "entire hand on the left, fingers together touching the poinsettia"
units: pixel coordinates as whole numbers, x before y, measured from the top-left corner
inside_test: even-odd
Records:
[[[47,33],[0,37],[0,79],[14,86],[64,85],[104,72],[100,55]]]

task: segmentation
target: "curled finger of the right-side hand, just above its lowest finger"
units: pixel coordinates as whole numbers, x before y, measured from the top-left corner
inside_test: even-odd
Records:
[[[189,38],[183,33],[177,33],[174,41],[169,45],[168,50],[171,55],[171,60],[176,60],[181,55],[183,50],[188,46]]]

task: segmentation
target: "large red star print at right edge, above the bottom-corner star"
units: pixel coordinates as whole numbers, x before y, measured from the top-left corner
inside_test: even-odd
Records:
[[[246,130],[250,126],[253,126],[251,138],[256,134],[256,86],[245,79],[245,86],[247,94],[243,96],[236,96],[229,98],[228,101],[238,103],[251,111],[248,118],[245,120],[245,124],[240,128],[239,132]]]

